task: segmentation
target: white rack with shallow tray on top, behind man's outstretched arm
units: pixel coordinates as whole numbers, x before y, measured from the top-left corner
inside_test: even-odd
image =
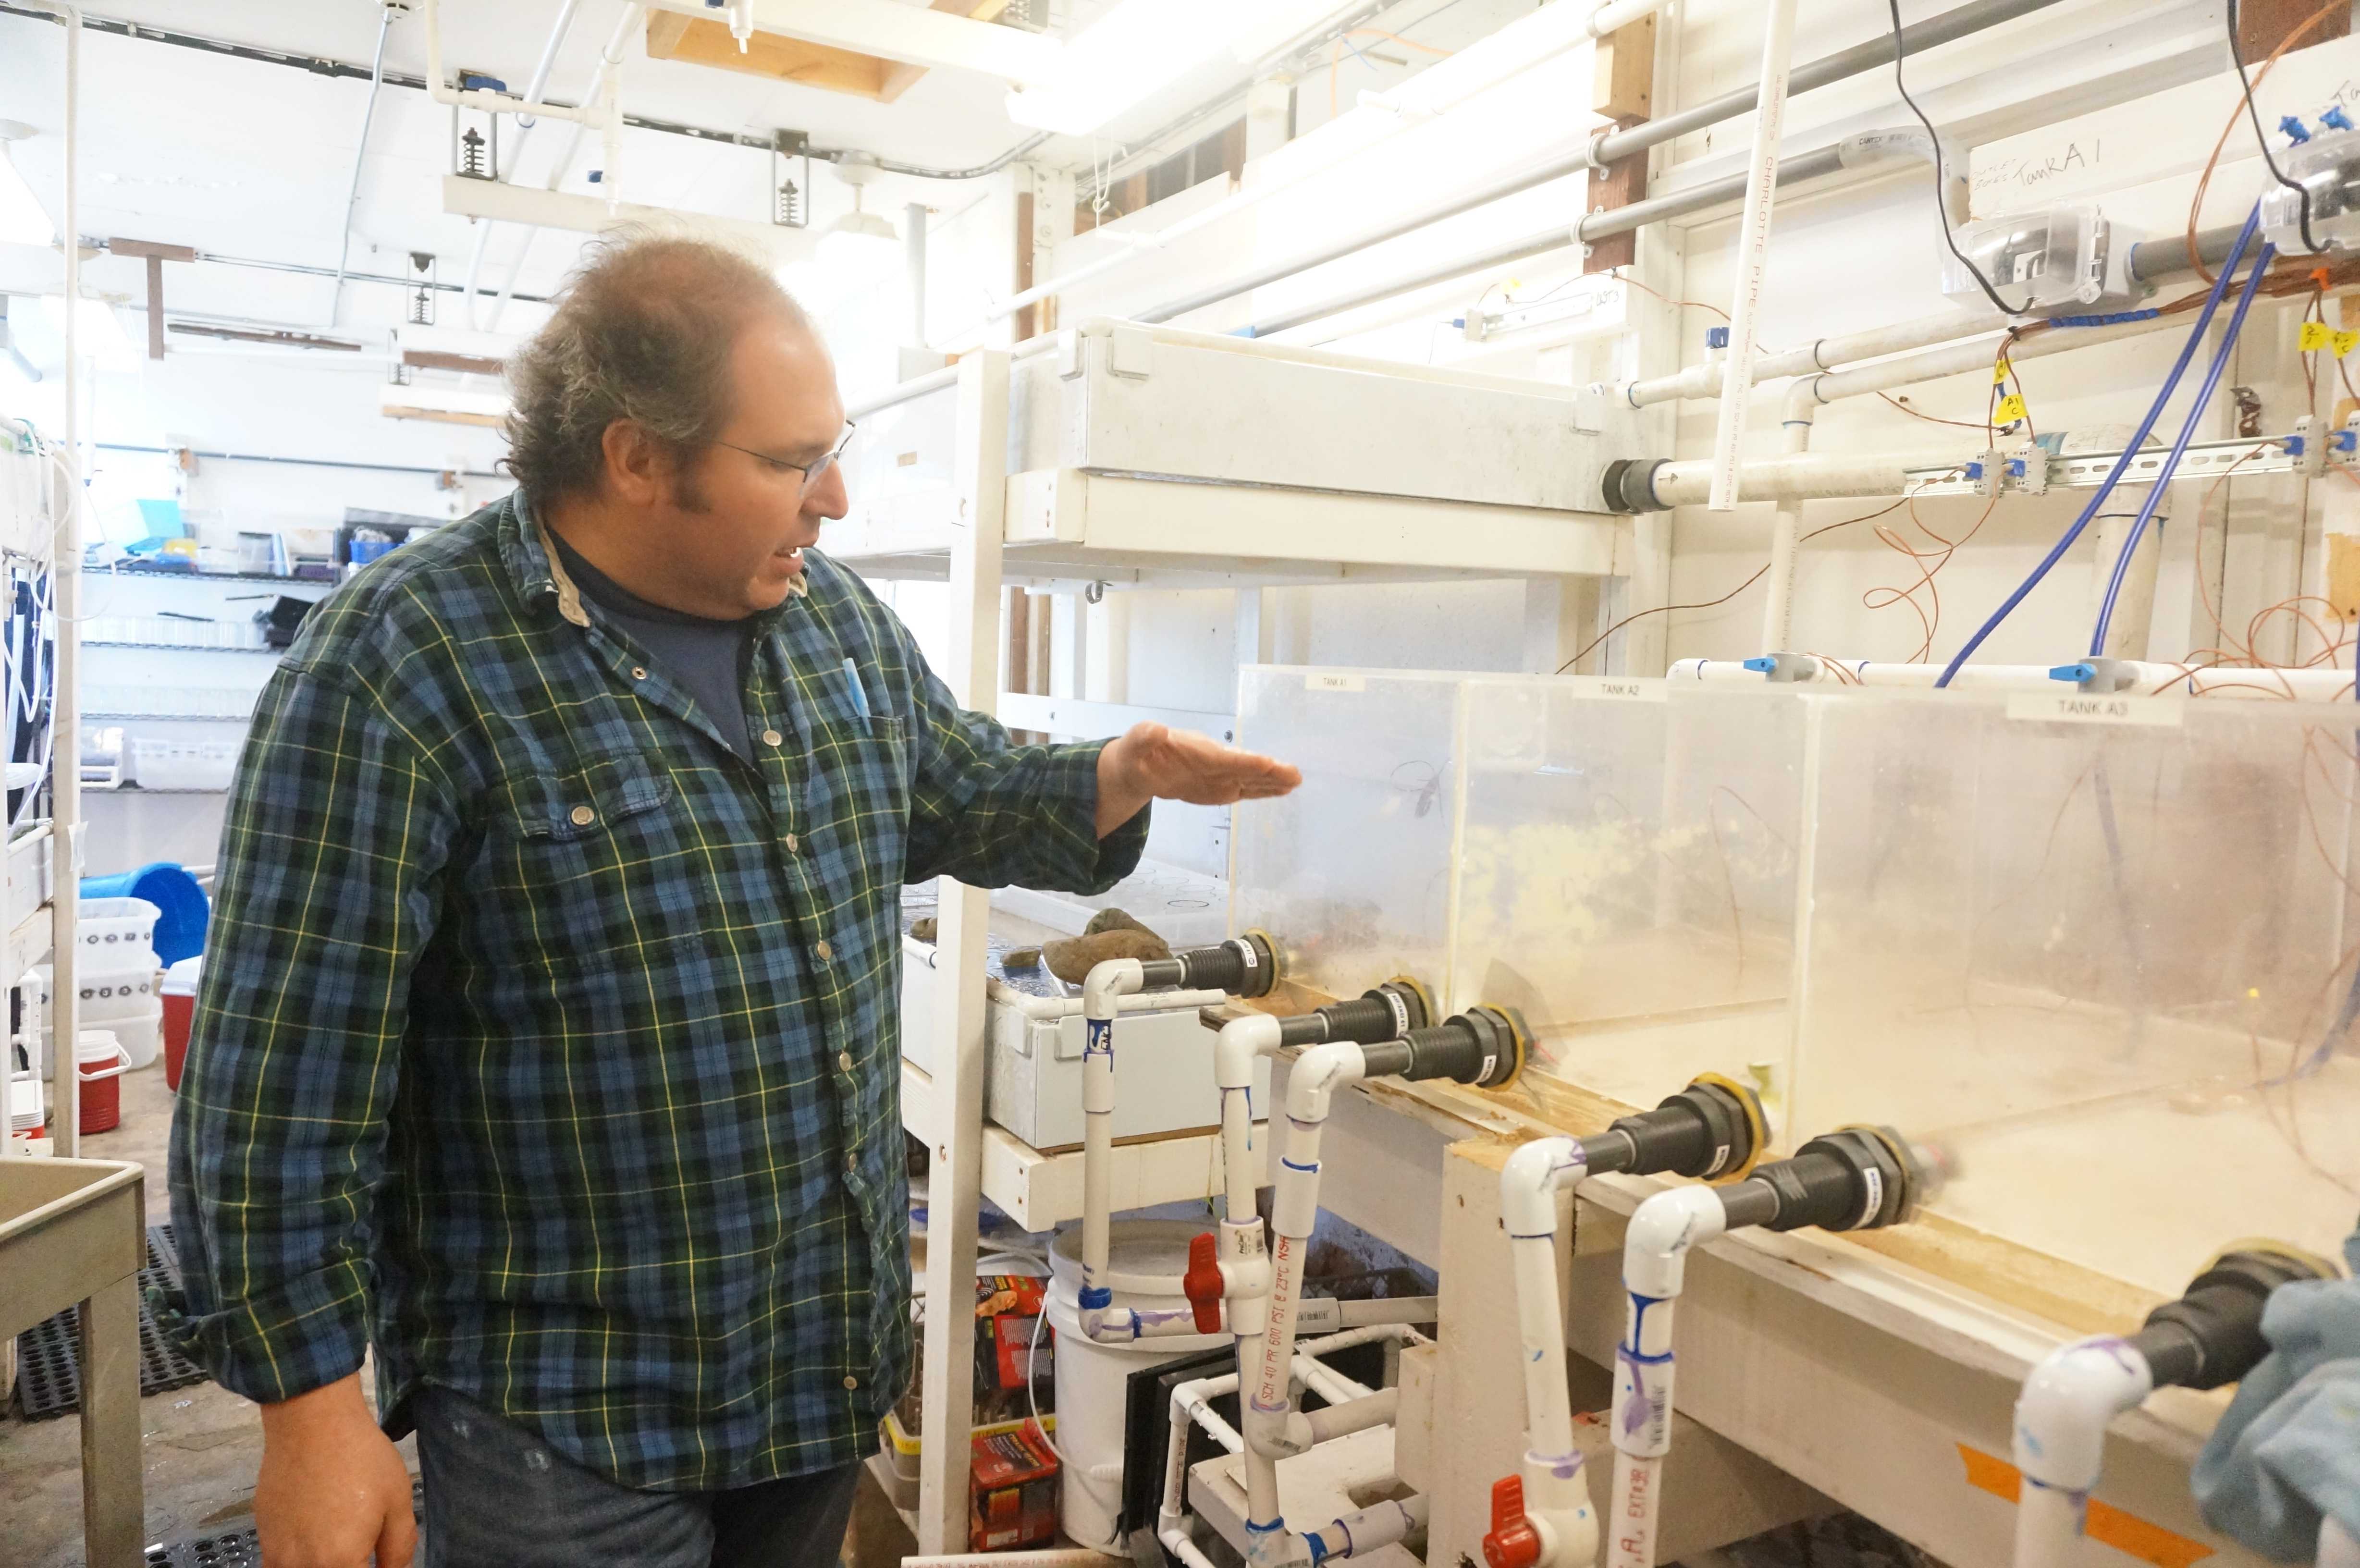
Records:
[[[1008,583],[1244,590],[1633,571],[1631,520],[1591,508],[1602,465],[1635,451],[1635,413],[1572,387],[1093,321],[1041,352],[975,352],[956,380],[854,413],[861,501],[826,550],[868,576],[951,583],[942,678],[986,713],[1001,708]],[[1088,734],[1135,713],[1107,697],[1008,706],[1017,723],[1055,713],[1055,730]],[[1027,1226],[1079,1211],[1076,1157],[984,1122],[986,923],[986,893],[944,878],[935,1072],[904,1067],[902,1082],[904,1126],[930,1150],[937,1301],[970,1289],[984,1193]],[[1119,1150],[1138,1202],[1173,1183],[1201,1190],[1204,1143]],[[956,1327],[953,1313],[927,1318],[930,1433],[972,1426],[975,1339]],[[965,1443],[925,1445],[920,1551],[965,1549]]]

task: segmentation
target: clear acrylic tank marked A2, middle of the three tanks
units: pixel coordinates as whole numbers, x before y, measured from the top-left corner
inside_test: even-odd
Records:
[[[1645,1108],[1720,1072],[1777,1126],[1803,711],[1770,690],[1470,680],[1449,1004],[1517,1006],[1534,1079]]]

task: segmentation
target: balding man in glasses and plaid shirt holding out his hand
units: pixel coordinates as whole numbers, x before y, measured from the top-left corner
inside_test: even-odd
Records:
[[[517,494],[255,713],[172,1332],[262,1403],[271,1568],[408,1563],[413,1426],[437,1563],[833,1561],[911,1367],[902,883],[1102,890],[1149,798],[1298,775],[963,713],[812,550],[843,404],[758,267],[599,248],[512,380]]]

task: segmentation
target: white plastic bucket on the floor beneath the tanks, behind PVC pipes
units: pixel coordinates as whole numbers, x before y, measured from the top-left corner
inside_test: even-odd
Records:
[[[1180,1275],[1187,1244],[1204,1230],[1168,1219],[1123,1221],[1107,1237],[1107,1287],[1114,1306],[1187,1311]],[[1173,1334],[1097,1344],[1081,1337],[1081,1226],[1050,1244],[1048,1322],[1057,1332],[1057,1448],[1064,1455],[1060,1514],[1064,1533],[1086,1547],[1121,1556],[1114,1521],[1123,1507],[1121,1481],[1093,1481],[1090,1466],[1123,1462],[1123,1396],[1133,1372],[1199,1351],[1222,1351],[1227,1334]]]

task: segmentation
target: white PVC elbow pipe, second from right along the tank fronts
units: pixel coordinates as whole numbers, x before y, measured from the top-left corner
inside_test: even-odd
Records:
[[[1614,1348],[1614,1514],[1610,1568],[1654,1568],[1671,1452],[1671,1311],[1687,1280],[1687,1254],[1728,1230],[1713,1188],[1671,1188],[1631,1214],[1624,1230],[1624,1339]]]

